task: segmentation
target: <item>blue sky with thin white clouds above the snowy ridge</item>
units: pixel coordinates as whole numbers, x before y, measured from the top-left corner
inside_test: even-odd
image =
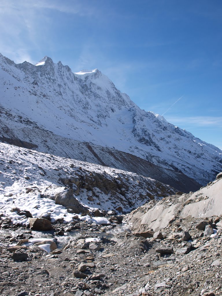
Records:
[[[222,149],[221,0],[1,0],[0,26],[15,62],[98,68],[141,109]]]

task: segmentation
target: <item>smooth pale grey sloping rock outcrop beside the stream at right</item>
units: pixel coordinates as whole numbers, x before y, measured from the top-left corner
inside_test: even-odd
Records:
[[[167,227],[178,218],[206,218],[222,215],[222,178],[220,176],[221,174],[218,174],[215,181],[197,192],[172,195],[137,208],[128,217],[132,230],[135,232],[149,229],[157,231]]]

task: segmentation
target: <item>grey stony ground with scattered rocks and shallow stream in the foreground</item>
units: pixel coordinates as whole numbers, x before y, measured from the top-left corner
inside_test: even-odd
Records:
[[[178,218],[140,234],[112,220],[77,218],[48,232],[1,220],[0,294],[221,295],[221,220]]]

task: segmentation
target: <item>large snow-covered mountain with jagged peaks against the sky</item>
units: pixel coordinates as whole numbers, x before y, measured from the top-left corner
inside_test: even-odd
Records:
[[[49,57],[16,65],[1,54],[0,66],[1,141],[145,176],[147,161],[184,184],[183,174],[205,185],[222,170],[220,149],[141,110],[97,69],[72,73]]]

